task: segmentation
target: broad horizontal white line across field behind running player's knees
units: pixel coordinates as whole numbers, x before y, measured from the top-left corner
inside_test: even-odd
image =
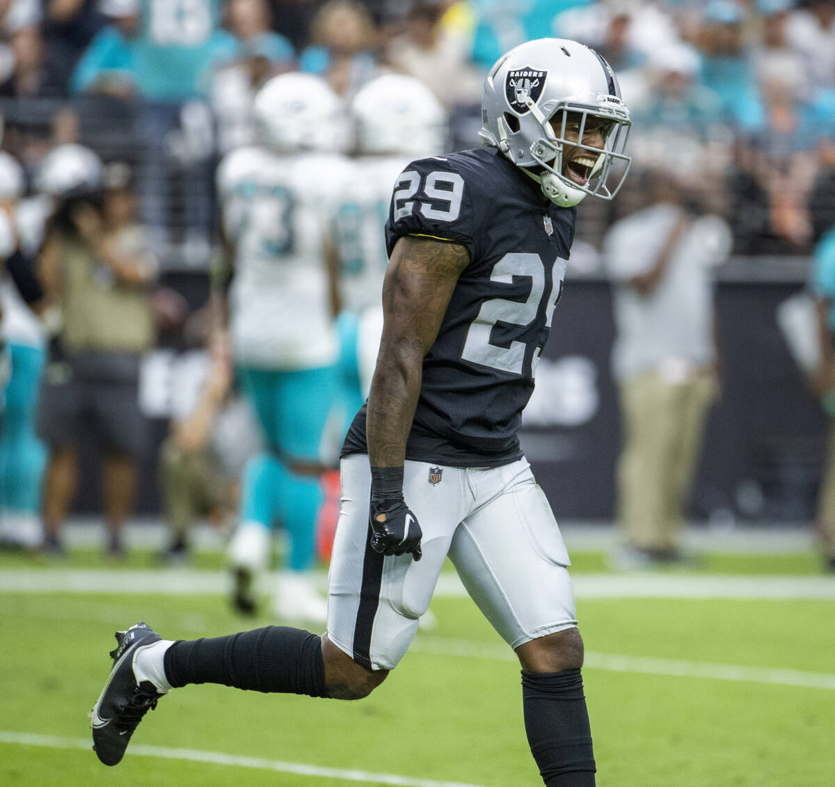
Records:
[[[325,574],[320,574],[324,588]],[[831,576],[721,576],[716,574],[578,574],[574,593],[595,598],[738,598],[835,599]],[[225,571],[169,569],[7,569],[0,571],[0,592],[7,593],[161,593],[170,596],[224,595]],[[435,595],[463,597],[461,581],[443,573]]]

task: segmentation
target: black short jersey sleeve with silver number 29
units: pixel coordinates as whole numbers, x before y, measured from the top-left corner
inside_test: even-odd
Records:
[[[398,238],[416,235],[460,243],[473,259],[481,235],[474,191],[473,178],[453,156],[412,161],[394,182],[386,222],[388,255]]]

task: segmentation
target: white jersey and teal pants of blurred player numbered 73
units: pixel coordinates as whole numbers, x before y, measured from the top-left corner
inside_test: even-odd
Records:
[[[298,570],[314,558],[321,490],[293,465],[333,460],[340,436],[326,438],[338,352],[326,234],[333,185],[347,168],[338,155],[247,147],[227,155],[217,172],[235,266],[232,352],[268,448],[245,470],[241,521],[282,520],[292,538],[290,567]]]

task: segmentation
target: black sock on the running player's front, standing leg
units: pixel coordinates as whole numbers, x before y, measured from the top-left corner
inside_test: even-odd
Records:
[[[547,787],[591,787],[595,754],[579,669],[522,672],[524,726]]]

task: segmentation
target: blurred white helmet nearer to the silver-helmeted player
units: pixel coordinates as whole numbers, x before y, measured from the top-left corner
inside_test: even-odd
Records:
[[[382,74],[351,104],[357,152],[426,156],[443,153],[447,116],[432,90],[405,74]]]

